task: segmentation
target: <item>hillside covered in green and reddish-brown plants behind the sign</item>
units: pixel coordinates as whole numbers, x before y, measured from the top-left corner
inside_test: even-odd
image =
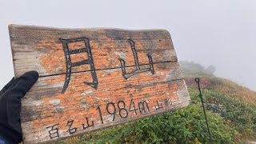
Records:
[[[214,66],[180,64],[192,99],[190,106],[60,143],[209,143],[196,77],[201,79],[213,142],[256,141],[256,93],[215,77]]]

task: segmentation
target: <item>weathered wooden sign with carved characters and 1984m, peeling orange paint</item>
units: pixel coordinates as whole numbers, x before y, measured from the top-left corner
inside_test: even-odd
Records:
[[[22,98],[25,143],[53,142],[190,102],[166,30],[9,29],[15,76],[39,73]]]

